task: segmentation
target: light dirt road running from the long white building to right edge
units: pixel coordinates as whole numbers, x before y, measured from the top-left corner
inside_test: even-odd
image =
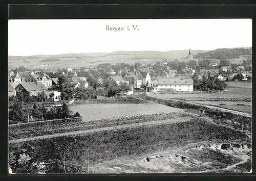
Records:
[[[159,99],[181,101],[181,100],[172,99],[172,98],[161,98],[161,97],[156,96],[155,94],[147,94],[147,95],[150,96],[150,97],[159,98]],[[233,111],[233,110],[219,108],[219,107],[215,107],[215,106],[207,106],[207,105],[198,104],[198,103],[195,103],[195,102],[189,102],[189,101],[183,101],[183,102],[186,102],[188,104],[194,104],[194,105],[197,105],[197,106],[204,106],[205,108],[209,108],[209,109],[216,109],[216,110],[220,110],[220,111],[223,111],[223,112],[230,112],[230,113],[233,113],[233,114],[238,114],[238,115],[241,115],[241,116],[246,116],[246,117],[251,118],[251,114],[249,114],[249,113],[243,113],[243,112],[240,112],[240,111]]]

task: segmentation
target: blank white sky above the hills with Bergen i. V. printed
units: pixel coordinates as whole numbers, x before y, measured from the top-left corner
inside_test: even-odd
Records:
[[[138,25],[133,30],[132,25]],[[106,31],[123,27],[124,31]],[[127,31],[129,26],[130,31]],[[10,56],[252,46],[251,19],[9,20]]]

